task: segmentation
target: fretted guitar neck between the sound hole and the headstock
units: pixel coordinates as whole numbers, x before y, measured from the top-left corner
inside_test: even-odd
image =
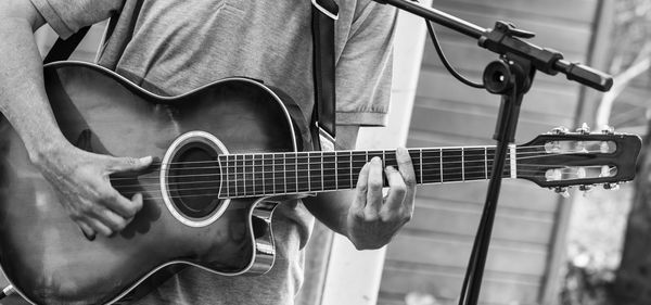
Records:
[[[397,168],[395,150],[228,154],[218,157],[220,198],[270,196],[354,189],[362,166],[379,156]],[[485,180],[495,147],[410,149],[418,185]],[[502,177],[510,177],[507,156]],[[384,177],[384,186],[387,186]]]

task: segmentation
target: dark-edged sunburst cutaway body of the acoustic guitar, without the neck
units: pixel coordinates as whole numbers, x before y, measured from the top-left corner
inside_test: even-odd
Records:
[[[114,303],[129,298],[129,292],[144,293],[135,288],[148,287],[142,284],[148,279],[164,280],[177,264],[221,275],[264,274],[271,267],[276,201],[217,200],[216,193],[206,192],[196,199],[175,190],[179,185],[174,181],[161,180],[159,171],[166,162],[204,162],[214,160],[214,153],[296,151],[301,140],[295,123],[273,91],[251,79],[232,78],[162,98],[90,64],[54,63],[44,73],[54,115],[68,141],[100,154],[153,155],[164,165],[115,179],[114,187],[125,195],[143,193],[143,208],[125,230],[89,241],[4,119],[0,265],[18,293],[37,304]],[[203,144],[170,156],[175,141],[193,131],[218,141],[199,141]],[[167,202],[161,181],[169,182],[167,193],[174,194]],[[180,182],[191,186],[192,179]],[[191,224],[180,221],[170,208],[189,215]]]

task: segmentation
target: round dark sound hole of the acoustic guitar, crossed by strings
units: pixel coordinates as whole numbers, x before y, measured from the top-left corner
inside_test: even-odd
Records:
[[[203,142],[190,142],[171,158],[169,193],[178,211],[190,218],[203,218],[219,206],[217,152]]]

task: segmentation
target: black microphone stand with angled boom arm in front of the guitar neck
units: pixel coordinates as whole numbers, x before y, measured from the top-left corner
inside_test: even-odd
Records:
[[[534,81],[536,71],[549,75],[565,74],[567,79],[578,81],[600,91],[608,91],[613,85],[610,75],[577,63],[563,60],[563,55],[551,49],[544,49],[524,41],[534,34],[515,28],[510,23],[497,22],[492,29],[482,28],[470,22],[442,11],[423,7],[408,0],[374,0],[408,11],[427,21],[477,39],[478,46],[499,54],[489,63],[483,75],[486,90],[501,96],[501,103],[493,138],[497,141],[493,171],[484,204],[482,219],[477,228],[465,278],[459,296],[459,305],[477,304],[486,255],[490,243],[493,223],[501,187],[507,153],[513,148],[515,127],[524,94]],[[515,175],[515,158],[510,158],[507,168],[511,177]]]

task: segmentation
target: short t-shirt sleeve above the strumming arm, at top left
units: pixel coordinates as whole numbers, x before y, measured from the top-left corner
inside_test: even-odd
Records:
[[[30,0],[46,22],[68,38],[80,28],[111,17],[123,0]]]

